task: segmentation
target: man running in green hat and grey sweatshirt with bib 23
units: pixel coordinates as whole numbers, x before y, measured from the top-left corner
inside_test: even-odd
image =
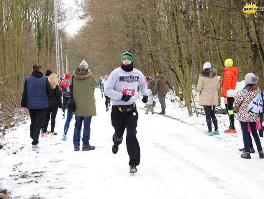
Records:
[[[133,67],[133,55],[126,51],[121,56],[121,66],[114,69],[106,84],[104,91],[111,98],[111,123],[114,128],[112,137],[112,153],[118,152],[118,145],[123,141],[127,129],[127,151],[129,155],[130,173],[136,173],[136,166],[140,163],[140,147],[136,138],[138,112],[136,110],[137,87],[143,95],[142,102],[148,101],[146,78],[143,73]]]

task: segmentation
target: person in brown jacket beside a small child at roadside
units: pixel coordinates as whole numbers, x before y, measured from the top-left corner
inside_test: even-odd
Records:
[[[158,101],[161,105],[161,112],[159,112],[158,114],[165,114],[165,110],[166,110],[165,97],[167,94],[166,84],[169,86],[171,90],[173,90],[173,87],[171,86],[169,80],[162,74],[160,70],[157,71],[157,79],[155,81],[155,86],[154,86],[154,95],[156,94],[158,95]]]

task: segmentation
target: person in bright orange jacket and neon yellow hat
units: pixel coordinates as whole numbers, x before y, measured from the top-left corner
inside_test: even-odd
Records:
[[[225,109],[229,117],[229,128],[224,131],[224,133],[237,133],[235,128],[235,117],[233,111],[233,105],[235,98],[227,97],[226,91],[229,89],[235,89],[237,84],[237,76],[238,76],[238,68],[233,66],[232,59],[226,59],[224,61],[224,69],[223,69],[223,79],[222,79],[222,89],[221,89],[221,97],[224,97]]]

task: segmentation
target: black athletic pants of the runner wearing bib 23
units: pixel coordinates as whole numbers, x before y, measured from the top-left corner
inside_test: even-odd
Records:
[[[129,165],[139,165],[140,148],[136,138],[138,112],[136,107],[134,111],[122,113],[118,110],[118,106],[112,106],[111,121],[115,133],[113,134],[113,142],[117,145],[122,143],[125,129],[127,128],[127,151],[129,155]]]

